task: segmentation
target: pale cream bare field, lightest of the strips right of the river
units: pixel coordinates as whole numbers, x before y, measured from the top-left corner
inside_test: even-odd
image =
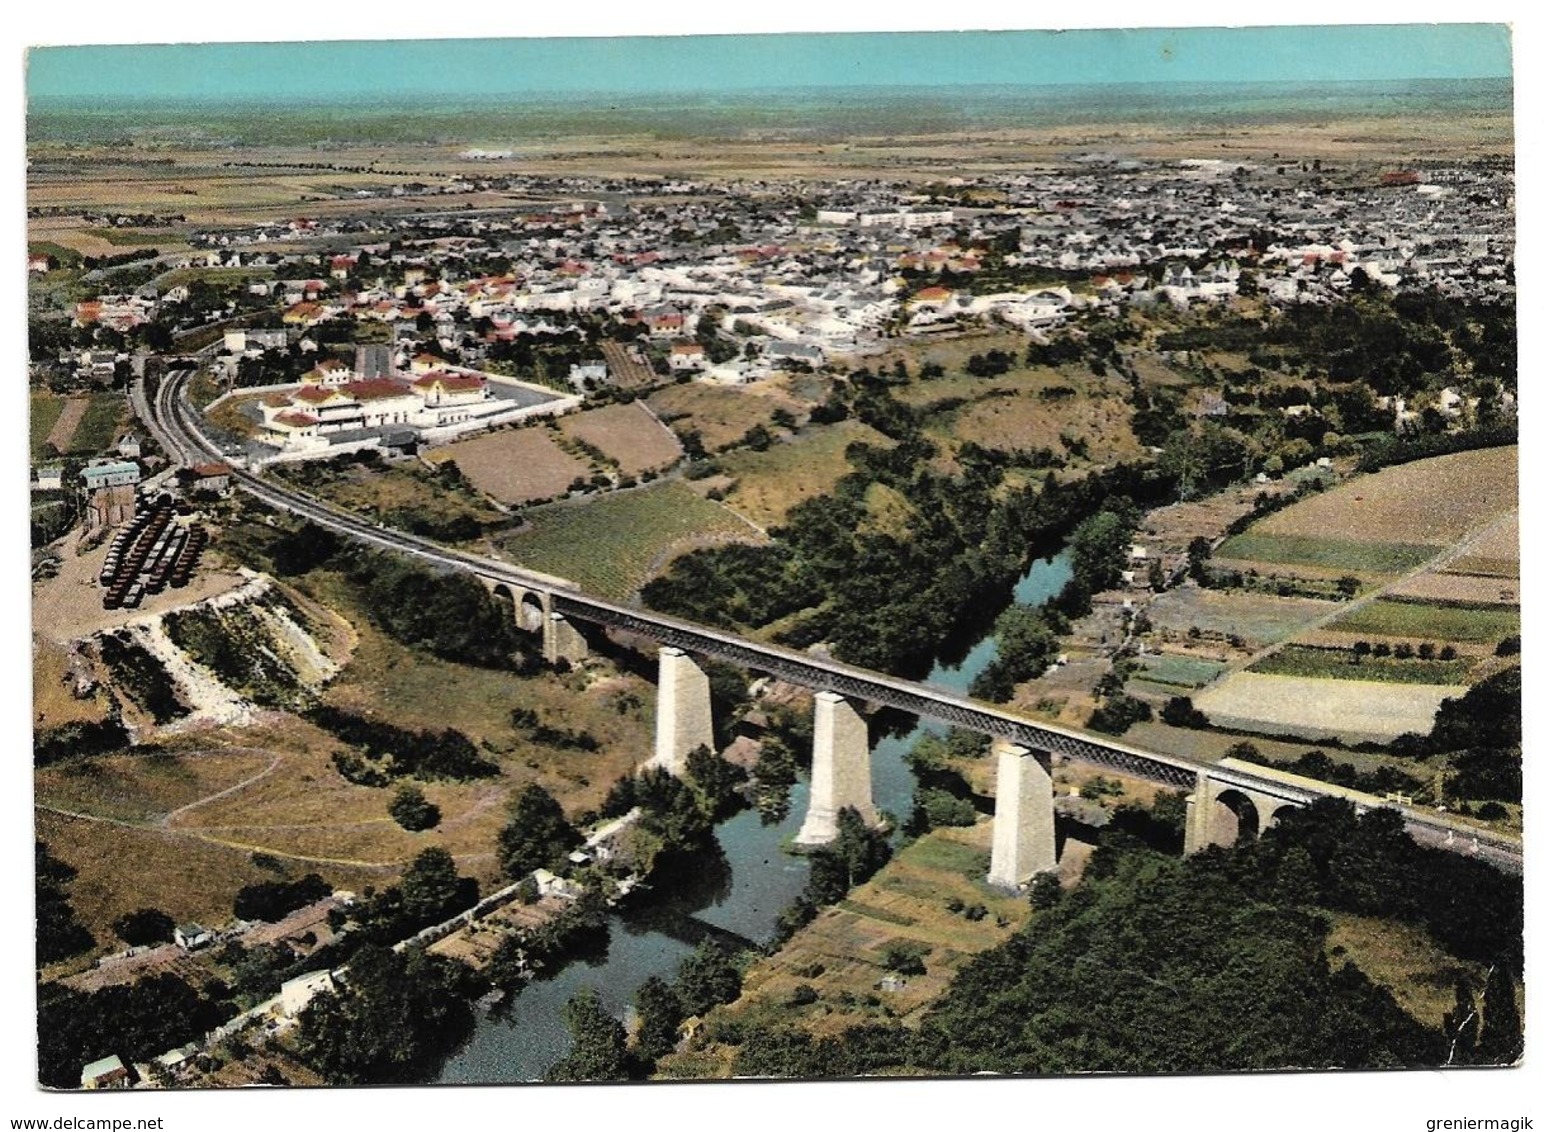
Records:
[[[1195,706],[1223,727],[1387,743],[1431,730],[1437,706],[1462,686],[1374,683],[1235,672],[1195,695]]]

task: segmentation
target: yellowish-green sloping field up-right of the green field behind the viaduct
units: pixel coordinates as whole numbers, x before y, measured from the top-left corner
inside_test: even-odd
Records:
[[[777,527],[797,503],[829,493],[852,471],[848,445],[891,448],[894,440],[857,420],[806,429],[764,452],[740,449],[720,463],[735,480],[726,502],[761,527]]]

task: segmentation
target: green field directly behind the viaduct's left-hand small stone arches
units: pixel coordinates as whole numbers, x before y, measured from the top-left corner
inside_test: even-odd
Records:
[[[527,517],[531,530],[500,544],[506,554],[619,599],[631,598],[678,548],[757,537],[740,516],[681,483],[554,503]]]

